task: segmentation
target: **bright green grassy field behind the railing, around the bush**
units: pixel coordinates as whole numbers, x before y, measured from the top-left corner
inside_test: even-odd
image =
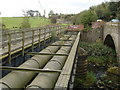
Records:
[[[23,17],[3,17],[2,22],[8,29],[19,29]],[[31,28],[50,24],[50,20],[42,17],[30,17]],[[16,28],[13,28],[16,27]]]

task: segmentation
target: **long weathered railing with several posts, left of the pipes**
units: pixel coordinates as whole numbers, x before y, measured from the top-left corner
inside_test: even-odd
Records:
[[[24,51],[26,46],[32,46],[32,51],[34,50],[34,44],[40,43],[48,38],[62,35],[63,26],[46,26],[42,28],[27,28],[19,30],[9,30],[1,31],[2,41],[0,41],[2,48],[2,57],[0,60],[8,57],[9,62],[11,60],[11,55],[15,50],[22,50],[22,55],[24,56]]]

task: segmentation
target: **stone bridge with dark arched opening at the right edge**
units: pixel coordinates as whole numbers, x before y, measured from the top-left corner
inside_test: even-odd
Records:
[[[106,23],[103,30],[104,44],[115,49],[120,65],[120,23]]]

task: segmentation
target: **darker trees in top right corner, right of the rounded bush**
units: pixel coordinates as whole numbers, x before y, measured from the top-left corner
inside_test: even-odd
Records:
[[[120,1],[119,2],[105,2],[97,6],[92,7],[95,10],[97,16],[104,21],[110,21],[113,18],[117,18],[117,14],[120,13]]]

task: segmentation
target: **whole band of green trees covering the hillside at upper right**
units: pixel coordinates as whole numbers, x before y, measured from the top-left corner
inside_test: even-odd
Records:
[[[103,21],[110,21],[111,19],[118,18],[120,20],[120,1],[119,2],[104,2],[97,6],[92,6],[89,10],[80,12],[74,15],[73,24],[84,24],[91,26],[91,22],[96,19]]]

